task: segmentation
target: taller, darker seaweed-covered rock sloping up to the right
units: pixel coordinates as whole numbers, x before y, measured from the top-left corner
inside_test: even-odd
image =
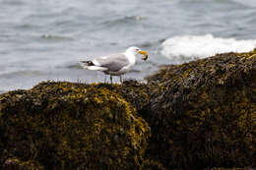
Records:
[[[256,166],[256,50],[166,66],[140,114],[167,168]]]

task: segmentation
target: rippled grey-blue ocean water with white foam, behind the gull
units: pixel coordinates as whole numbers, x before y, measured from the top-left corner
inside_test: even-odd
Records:
[[[41,81],[103,82],[79,60],[138,46],[125,79],[256,47],[255,0],[0,0],[0,92]],[[118,78],[114,81],[118,82]]]

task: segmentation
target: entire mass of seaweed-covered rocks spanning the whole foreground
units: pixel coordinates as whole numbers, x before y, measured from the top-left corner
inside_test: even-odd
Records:
[[[255,135],[256,50],[0,95],[2,169],[252,169]]]

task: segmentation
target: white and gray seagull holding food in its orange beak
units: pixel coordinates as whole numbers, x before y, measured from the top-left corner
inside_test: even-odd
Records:
[[[129,47],[124,53],[111,54],[96,57],[93,61],[80,61],[81,66],[86,70],[101,71],[105,75],[110,75],[112,84],[112,76],[118,76],[122,83],[122,75],[128,73],[136,63],[136,56],[143,54],[142,60],[148,59],[148,53],[138,47]]]

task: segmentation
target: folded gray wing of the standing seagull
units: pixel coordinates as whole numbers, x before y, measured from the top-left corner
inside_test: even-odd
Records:
[[[129,65],[129,61],[124,54],[96,57],[93,63],[97,66],[108,68],[108,71],[110,72],[118,72],[123,67]]]

